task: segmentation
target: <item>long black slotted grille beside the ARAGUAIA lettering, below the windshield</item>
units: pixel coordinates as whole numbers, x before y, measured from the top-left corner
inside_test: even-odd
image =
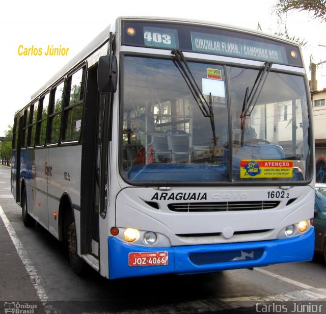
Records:
[[[174,203],[169,210],[179,213],[195,212],[229,212],[271,210],[280,204],[279,201],[247,201],[247,202],[214,202],[214,203]]]

